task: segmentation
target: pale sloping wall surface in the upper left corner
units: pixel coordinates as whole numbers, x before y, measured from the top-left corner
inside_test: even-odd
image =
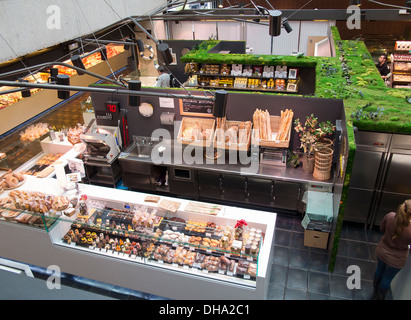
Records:
[[[90,34],[122,18],[150,14],[166,3],[166,0],[2,0],[0,62]]]

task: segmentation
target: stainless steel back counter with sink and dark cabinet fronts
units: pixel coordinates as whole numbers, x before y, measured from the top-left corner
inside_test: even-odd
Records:
[[[301,167],[260,164],[258,157],[246,153],[226,152],[212,160],[205,157],[208,149],[175,140],[151,146],[151,152],[147,148],[133,144],[119,157],[123,183],[131,190],[303,212],[306,190],[332,192],[334,186],[334,174],[319,181]]]

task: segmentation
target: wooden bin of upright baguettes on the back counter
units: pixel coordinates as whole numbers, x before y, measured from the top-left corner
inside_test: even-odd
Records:
[[[270,116],[265,110],[256,109],[253,114],[253,145],[272,148],[288,148],[294,112],[281,110],[281,116]]]

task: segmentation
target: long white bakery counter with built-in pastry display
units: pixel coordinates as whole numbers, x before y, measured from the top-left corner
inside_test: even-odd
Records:
[[[267,297],[275,213],[84,184],[76,194],[32,176],[23,190],[87,200],[45,215],[48,232],[0,222],[2,257],[173,299]]]

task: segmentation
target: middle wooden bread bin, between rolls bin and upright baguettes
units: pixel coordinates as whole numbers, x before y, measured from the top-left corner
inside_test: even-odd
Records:
[[[247,151],[251,142],[251,121],[225,121],[214,134],[214,147],[220,149]]]

